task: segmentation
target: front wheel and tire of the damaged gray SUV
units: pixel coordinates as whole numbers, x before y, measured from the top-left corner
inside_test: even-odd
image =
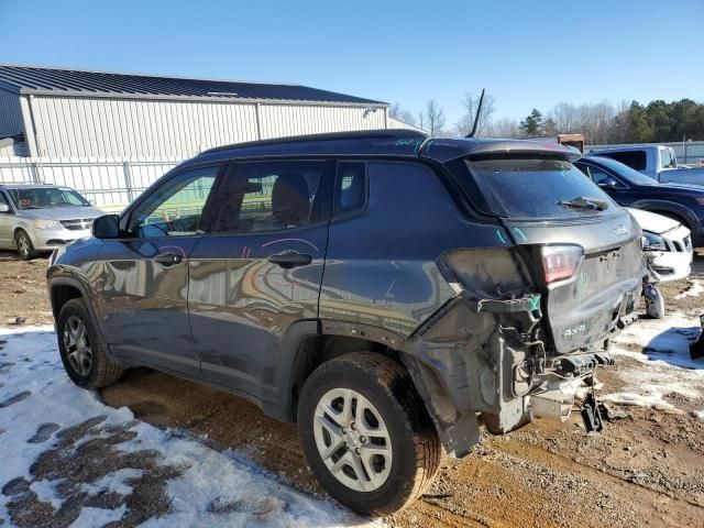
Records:
[[[120,380],[123,370],[106,353],[82,299],[70,299],[62,307],[56,331],[64,369],[76,385],[96,389]]]

